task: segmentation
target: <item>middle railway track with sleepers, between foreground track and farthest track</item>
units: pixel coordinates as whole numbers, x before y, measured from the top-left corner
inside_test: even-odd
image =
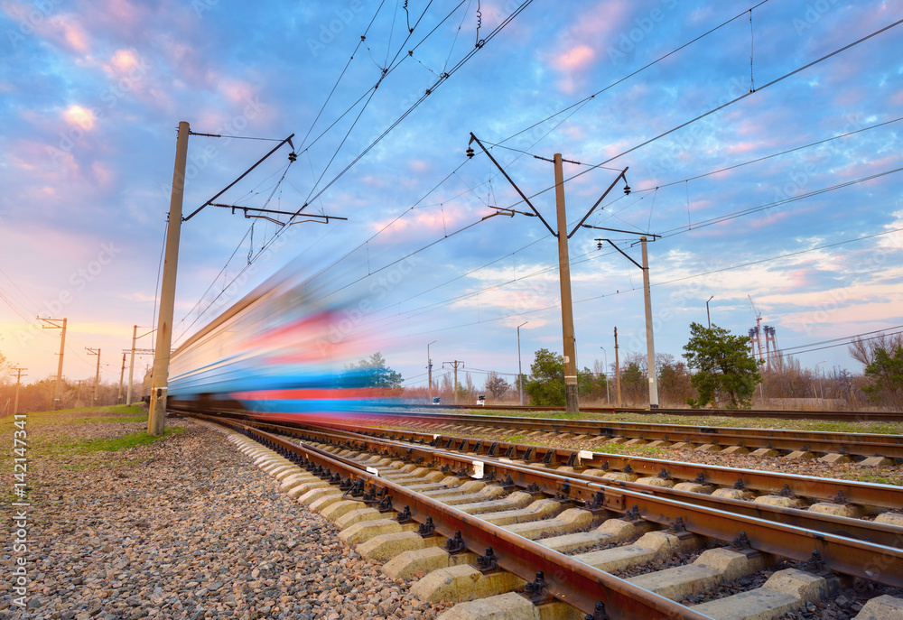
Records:
[[[352,421],[368,426],[405,426],[419,430],[455,428],[462,432],[495,433],[498,436],[539,437],[554,433],[627,445],[728,450],[729,454],[751,452],[754,456],[777,457],[796,453],[796,457],[819,457],[833,463],[859,460],[865,461],[865,465],[889,465],[892,462],[882,458],[903,461],[903,435],[426,412],[354,412],[349,416]]]

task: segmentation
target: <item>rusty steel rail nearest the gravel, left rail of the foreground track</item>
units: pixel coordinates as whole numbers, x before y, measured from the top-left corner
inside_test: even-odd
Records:
[[[427,516],[432,517],[436,531],[442,535],[451,538],[455,532],[461,532],[461,538],[470,551],[479,553],[487,547],[492,547],[498,556],[498,566],[526,581],[532,581],[535,578],[536,569],[543,570],[547,591],[551,596],[588,614],[591,614],[596,603],[601,601],[605,604],[606,611],[615,618],[712,620],[711,616],[694,612],[689,607],[638,588],[624,579],[594,569],[516,533],[481,521],[448,504],[442,504],[425,495],[415,493],[405,486],[374,476],[361,469],[358,464],[349,464],[348,459],[337,458],[329,452],[314,449],[312,446],[295,445],[291,441],[263,430],[253,429],[237,421],[224,422],[207,416],[199,417],[233,428],[243,428],[248,433],[256,434],[260,439],[265,440],[265,444],[275,446],[280,452],[294,455],[303,454],[304,458],[321,467],[342,470],[349,477],[365,480],[371,486],[376,486],[384,493],[388,493],[396,510],[407,506],[414,517],[420,517],[418,521],[421,522],[424,522]]]

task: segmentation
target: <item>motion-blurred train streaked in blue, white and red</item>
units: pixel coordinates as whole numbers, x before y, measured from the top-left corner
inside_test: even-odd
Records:
[[[391,390],[340,370],[357,353],[353,302],[314,296],[305,282],[283,276],[200,329],[172,353],[167,406],[288,420],[385,404]]]

